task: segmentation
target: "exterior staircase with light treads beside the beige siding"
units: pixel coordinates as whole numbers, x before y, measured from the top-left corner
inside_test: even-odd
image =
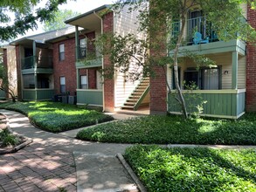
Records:
[[[126,102],[121,106],[121,109],[132,109],[136,111],[148,93],[149,78],[144,78],[140,84],[135,87],[133,93],[130,94]]]

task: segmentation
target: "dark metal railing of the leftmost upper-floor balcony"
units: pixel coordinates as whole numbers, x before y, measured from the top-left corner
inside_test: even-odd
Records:
[[[52,57],[50,56],[31,56],[21,59],[22,69],[31,69],[35,68],[37,65],[38,68],[52,68]]]

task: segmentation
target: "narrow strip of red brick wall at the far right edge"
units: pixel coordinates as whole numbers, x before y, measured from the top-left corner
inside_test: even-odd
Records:
[[[256,27],[256,11],[248,7],[248,23]],[[247,44],[246,51],[246,111],[256,112],[256,48]]]

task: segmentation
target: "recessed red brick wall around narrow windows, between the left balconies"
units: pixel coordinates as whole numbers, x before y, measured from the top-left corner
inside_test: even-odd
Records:
[[[59,45],[65,45],[65,59],[59,61]],[[74,95],[76,92],[76,68],[75,68],[75,38],[69,38],[53,44],[53,70],[55,93],[60,93],[60,77],[66,78],[66,92]]]

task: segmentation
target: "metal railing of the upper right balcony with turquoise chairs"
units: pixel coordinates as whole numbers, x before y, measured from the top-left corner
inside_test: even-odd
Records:
[[[172,23],[171,38],[176,41],[181,27],[181,22]],[[197,33],[197,35],[196,35]],[[211,43],[218,41],[218,36],[211,22],[206,17],[190,18],[186,22],[186,32],[183,45],[195,45],[201,43]],[[199,36],[199,37],[198,37]],[[201,38],[195,43],[195,38]]]

